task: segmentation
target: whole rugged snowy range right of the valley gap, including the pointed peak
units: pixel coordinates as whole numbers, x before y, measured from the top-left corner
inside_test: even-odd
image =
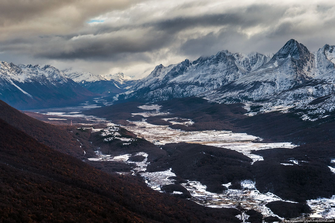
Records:
[[[302,118],[335,109],[334,46],[310,52],[291,39],[276,54],[218,52],[167,67],[162,64],[116,100],[154,102],[189,96],[247,104],[249,115],[297,109]]]

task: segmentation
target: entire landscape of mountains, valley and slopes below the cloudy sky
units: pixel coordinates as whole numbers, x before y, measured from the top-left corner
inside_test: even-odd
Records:
[[[333,50],[291,39],[140,80],[1,62],[1,220],[334,219]]]

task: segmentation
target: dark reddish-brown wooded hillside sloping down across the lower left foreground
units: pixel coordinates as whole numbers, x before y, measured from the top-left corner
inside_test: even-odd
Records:
[[[0,119],[2,222],[240,222],[211,209],[109,175],[38,143]]]

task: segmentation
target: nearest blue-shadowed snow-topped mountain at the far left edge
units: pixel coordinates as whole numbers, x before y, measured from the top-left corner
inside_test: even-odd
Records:
[[[71,105],[91,96],[51,65],[0,62],[0,100],[18,109]]]

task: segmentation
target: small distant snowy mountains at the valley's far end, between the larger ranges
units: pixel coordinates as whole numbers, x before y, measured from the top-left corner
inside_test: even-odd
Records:
[[[127,91],[134,81],[123,73],[95,75],[90,72],[63,70],[72,80],[82,87],[98,94],[119,94]]]

